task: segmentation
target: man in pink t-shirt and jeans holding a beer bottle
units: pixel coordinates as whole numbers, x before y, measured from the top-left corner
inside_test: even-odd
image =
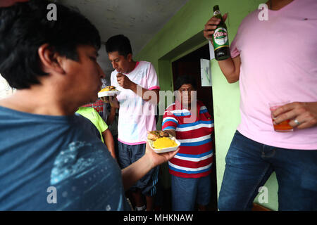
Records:
[[[271,0],[267,6],[267,20],[260,20],[261,10],[247,15],[231,58],[218,61],[228,82],[240,81],[241,96],[218,207],[251,210],[275,172],[279,210],[317,210],[317,1]],[[207,39],[218,23],[206,23]],[[271,113],[272,103],[282,105]],[[294,131],[274,131],[272,116],[276,124],[290,120]]]

